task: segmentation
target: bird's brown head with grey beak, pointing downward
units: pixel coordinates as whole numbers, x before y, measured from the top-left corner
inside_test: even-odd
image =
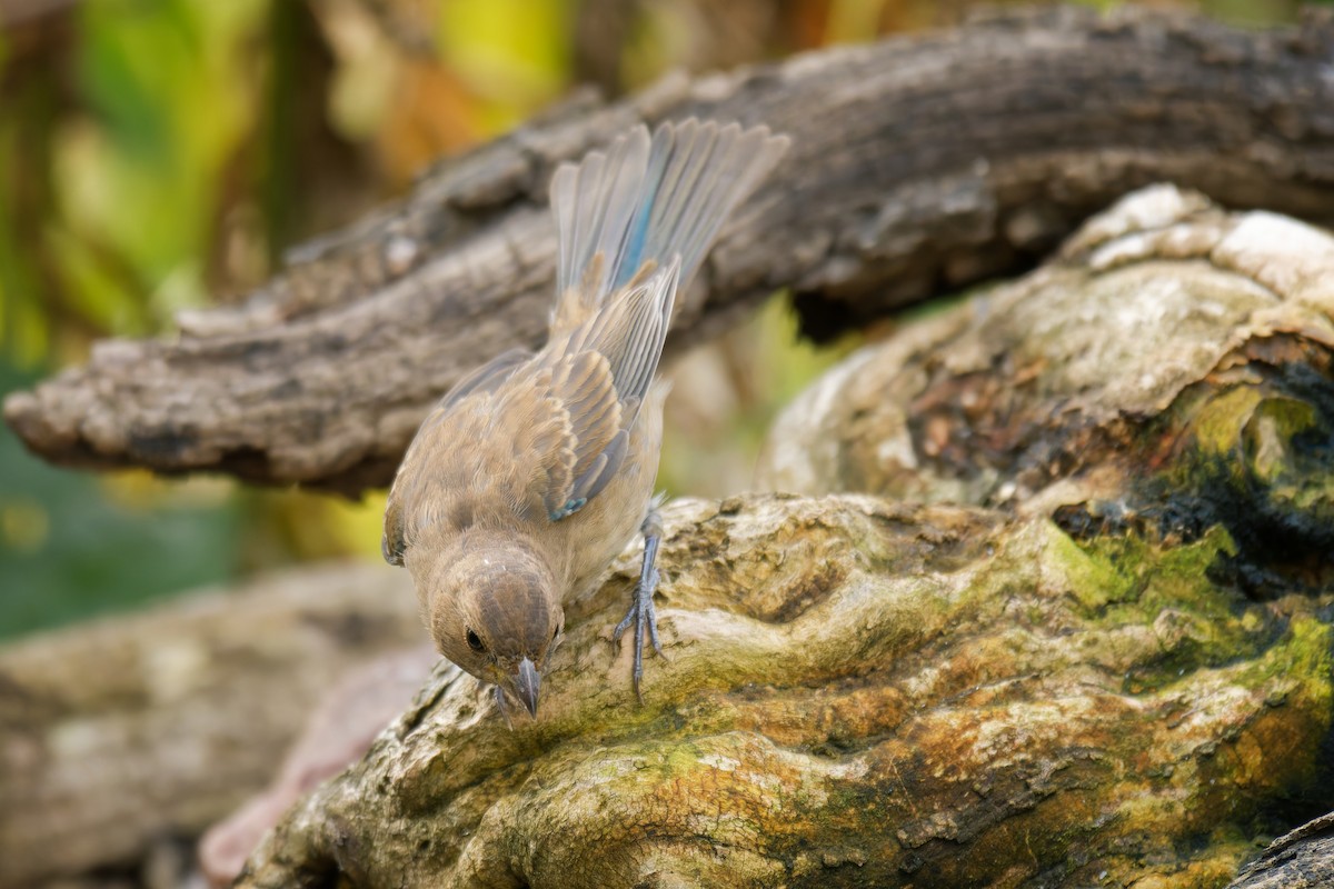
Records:
[[[546,560],[512,534],[463,534],[406,558],[436,649],[538,714],[542,670],[564,612]]]

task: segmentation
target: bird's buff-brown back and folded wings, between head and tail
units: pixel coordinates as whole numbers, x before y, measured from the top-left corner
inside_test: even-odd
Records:
[[[644,269],[538,356],[507,352],[460,381],[422,424],[384,509],[386,561],[427,525],[479,512],[560,521],[615,477],[671,321],[678,263]]]

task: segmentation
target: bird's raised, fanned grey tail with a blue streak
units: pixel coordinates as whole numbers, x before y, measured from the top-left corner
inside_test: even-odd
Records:
[[[690,283],[718,229],[787,151],[766,127],[690,119],[643,125],[551,181],[559,257],[551,336],[587,321],[646,263]],[[670,299],[670,295],[668,295]]]

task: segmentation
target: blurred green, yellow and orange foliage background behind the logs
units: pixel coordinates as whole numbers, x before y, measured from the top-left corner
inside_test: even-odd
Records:
[[[0,396],[108,336],[171,336],[303,239],[578,84],[958,23],[967,0],[0,0]],[[1099,3],[1097,5],[1109,5]],[[1169,5],[1169,4],[1157,4]],[[1171,4],[1243,24],[1286,0]],[[746,489],[774,412],[851,348],[780,300],[672,367],[660,485]],[[0,428],[0,640],[329,557],[379,558],[360,502],[47,466]]]

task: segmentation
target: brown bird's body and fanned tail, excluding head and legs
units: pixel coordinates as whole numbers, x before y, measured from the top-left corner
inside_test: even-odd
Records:
[[[551,184],[559,233],[547,345],[458,384],[404,457],[384,553],[508,525],[570,592],[628,542],[652,494],[666,396],[655,385],[678,287],[786,149],[764,128],[638,127]]]

